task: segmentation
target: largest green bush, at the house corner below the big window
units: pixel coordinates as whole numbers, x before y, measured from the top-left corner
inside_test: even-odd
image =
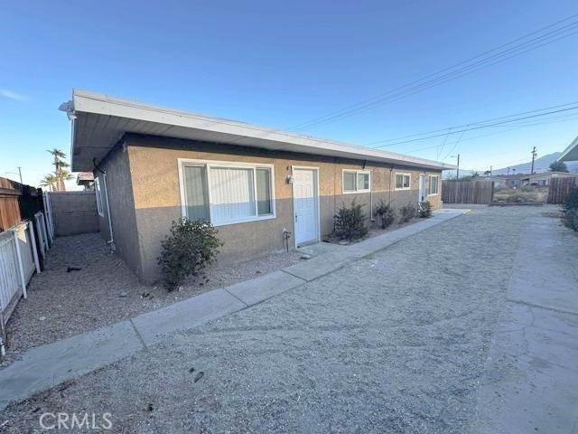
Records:
[[[197,276],[217,258],[223,245],[217,232],[210,222],[185,218],[172,222],[171,233],[162,241],[163,251],[157,259],[165,288],[178,288],[185,278]]]

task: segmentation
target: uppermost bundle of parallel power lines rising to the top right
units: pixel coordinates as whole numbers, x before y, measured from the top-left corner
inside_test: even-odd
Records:
[[[344,108],[344,109],[337,110],[337,111],[332,112],[332,113],[330,113],[330,114],[328,114],[328,115],[325,115],[325,116],[322,116],[322,117],[319,117],[319,118],[313,118],[313,119],[310,120],[310,121],[303,122],[303,123],[301,123],[301,124],[299,124],[299,125],[297,125],[297,126],[295,126],[295,127],[293,127],[293,128],[289,128],[289,129],[303,129],[304,127],[312,127],[312,126],[314,126],[314,125],[322,125],[323,123],[326,123],[326,122],[328,122],[328,121],[331,121],[331,122],[332,122],[332,121],[334,121],[334,120],[338,120],[338,118],[343,118],[343,117],[350,116],[351,114],[353,114],[354,112],[357,112],[357,111],[359,111],[359,110],[374,108],[374,105],[376,105],[376,104],[380,104],[380,103],[382,103],[382,102],[387,102],[387,100],[384,100],[384,98],[387,97],[387,96],[389,96],[389,95],[391,95],[392,93],[394,93],[394,92],[396,92],[396,91],[403,90],[403,92],[398,93],[398,95],[393,95],[393,96],[388,97],[388,98],[395,98],[396,96],[401,96],[404,92],[407,91],[407,90],[404,90],[404,89],[406,89],[406,88],[408,88],[408,87],[410,87],[410,86],[413,86],[413,85],[415,85],[415,84],[417,84],[417,83],[420,83],[421,81],[424,81],[424,80],[433,78],[433,77],[435,77],[435,76],[437,76],[437,75],[442,74],[442,73],[445,72],[445,71],[450,71],[450,70],[452,70],[452,69],[454,69],[454,68],[456,68],[456,67],[458,67],[458,66],[460,66],[460,65],[469,63],[469,62],[471,62],[471,61],[473,61],[473,60],[475,60],[475,59],[479,59],[480,57],[483,57],[483,56],[485,56],[486,54],[489,54],[490,52],[497,52],[497,51],[499,51],[501,48],[507,47],[508,45],[511,45],[511,44],[513,44],[513,43],[516,43],[516,42],[519,42],[519,41],[521,41],[521,40],[527,39],[529,36],[532,36],[532,35],[534,35],[534,34],[536,34],[536,33],[544,32],[546,29],[555,27],[555,26],[558,25],[558,24],[562,24],[562,23],[564,23],[564,22],[566,22],[566,21],[568,21],[568,20],[573,19],[573,18],[576,17],[576,16],[578,16],[578,14],[573,14],[573,15],[568,16],[568,17],[564,18],[563,20],[560,20],[560,21],[558,21],[558,22],[556,22],[556,23],[554,23],[554,24],[549,24],[549,25],[547,25],[547,26],[545,26],[545,27],[542,27],[541,29],[538,29],[538,30],[536,30],[536,31],[534,31],[534,32],[527,33],[527,34],[525,34],[525,35],[523,35],[523,36],[521,36],[521,37],[519,37],[519,38],[517,38],[517,39],[515,39],[515,40],[513,40],[513,41],[510,41],[510,42],[506,42],[506,43],[504,43],[504,44],[501,44],[501,45],[499,45],[498,47],[493,48],[493,49],[491,49],[491,50],[489,50],[489,51],[487,51],[487,52],[482,52],[482,53],[480,53],[479,55],[474,56],[474,57],[471,57],[470,59],[468,59],[468,60],[466,60],[466,61],[460,61],[460,62],[458,62],[458,63],[456,63],[456,64],[454,64],[454,65],[452,65],[452,66],[450,66],[450,67],[444,68],[443,70],[434,72],[434,73],[432,73],[432,74],[428,74],[428,75],[424,76],[424,77],[421,78],[421,79],[411,81],[411,82],[407,83],[406,85],[400,86],[400,87],[398,87],[398,88],[396,88],[396,89],[394,89],[394,90],[388,90],[388,91],[386,91],[386,92],[383,92],[383,93],[379,94],[379,95],[376,96],[376,97],[372,97],[372,98],[369,98],[369,99],[365,99],[365,100],[363,100],[363,101],[360,101],[359,103],[353,104],[353,105],[351,105],[351,106],[349,106],[349,107],[347,107],[347,108]],[[529,51],[529,50],[523,51],[523,52],[520,52],[520,51],[522,51],[524,48],[526,48],[526,47],[528,47],[528,46],[531,46],[531,45],[533,45],[533,44],[536,44],[536,43],[539,43],[539,42],[544,42],[544,41],[547,40],[547,39],[553,39],[553,37],[556,36],[556,35],[559,34],[559,33],[564,33],[564,32],[568,32],[568,31],[570,31],[570,30],[573,30],[574,28],[576,28],[576,24],[577,24],[577,23],[578,23],[578,22],[573,22],[573,23],[570,23],[570,24],[565,24],[564,26],[562,26],[562,27],[560,27],[560,28],[558,28],[558,29],[555,29],[554,31],[551,31],[551,32],[542,34],[542,35],[540,35],[540,36],[538,36],[538,37],[536,37],[536,38],[534,38],[534,39],[531,39],[531,40],[529,40],[529,41],[527,41],[527,42],[520,43],[520,44],[518,44],[518,45],[516,45],[516,46],[514,46],[514,47],[510,47],[508,50],[505,50],[505,51],[503,51],[503,52],[499,52],[499,53],[496,53],[496,54],[492,54],[491,56],[489,56],[489,57],[486,58],[486,59],[481,59],[480,61],[476,61],[476,62],[474,62],[474,63],[472,63],[472,64],[470,64],[470,65],[467,65],[467,66],[465,66],[465,67],[462,67],[461,69],[458,69],[457,71],[449,72],[449,73],[447,73],[447,74],[444,74],[444,75],[441,76],[441,77],[435,77],[435,79],[426,81],[426,82],[424,82],[424,83],[416,86],[416,87],[413,88],[413,89],[416,89],[416,90],[417,90],[417,89],[419,89],[419,88],[421,88],[421,87],[424,87],[424,86],[427,85],[428,83],[433,83],[435,80],[440,80],[440,79],[443,79],[443,78],[445,78],[445,77],[449,77],[449,76],[451,76],[452,74],[459,74],[459,73],[461,73],[461,72],[463,72],[463,71],[467,71],[468,69],[471,69],[471,68],[473,68],[473,67],[480,66],[480,65],[482,65],[484,62],[488,62],[488,61],[492,61],[492,60],[499,59],[499,57],[503,57],[503,56],[505,56],[505,55],[507,55],[507,54],[509,54],[509,53],[511,53],[511,52],[516,52],[516,51],[518,51],[518,52],[519,52],[518,54],[521,54],[521,53],[523,53],[523,52],[527,52],[527,51]],[[562,36],[562,37],[568,37],[568,36],[570,36],[570,35],[572,35],[572,34],[573,34],[573,33],[564,34],[564,36]],[[546,42],[546,43],[555,42],[555,41],[557,41],[558,39],[562,39],[562,38],[555,38],[554,40],[548,41],[548,42]],[[536,46],[536,47],[533,47],[532,49],[539,48],[540,46],[543,46],[543,45],[544,45],[544,44],[540,44],[540,45],[538,45],[538,46]],[[514,56],[506,57],[505,59],[501,59],[500,61],[505,61],[505,60],[507,60],[507,59],[509,59],[509,58],[511,58],[511,57],[514,57]],[[495,63],[496,63],[496,62],[491,63],[491,64],[495,64]],[[490,65],[486,65],[486,66],[490,66]],[[479,68],[479,69],[480,69],[480,68]],[[468,72],[468,73],[469,73],[469,72]],[[465,75],[465,74],[462,74],[462,75]],[[457,78],[457,77],[454,77],[454,78]],[[444,81],[442,81],[442,82],[440,82],[440,83],[437,83],[437,84],[442,84],[442,83],[445,82],[445,81],[447,81],[447,80],[444,80]],[[429,86],[429,87],[433,87],[433,86]],[[429,89],[429,87],[427,87],[427,88],[425,88],[425,89]],[[410,89],[410,90],[412,90],[412,89]],[[424,89],[422,89],[422,90],[424,90]],[[414,92],[414,93],[415,93],[415,92]],[[369,106],[370,106],[370,107],[369,107]],[[375,107],[377,107],[377,106],[375,106]]]

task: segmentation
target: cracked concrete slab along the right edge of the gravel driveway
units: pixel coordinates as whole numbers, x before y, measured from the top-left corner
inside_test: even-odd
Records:
[[[527,220],[471,434],[578,433],[578,242],[556,223]]]

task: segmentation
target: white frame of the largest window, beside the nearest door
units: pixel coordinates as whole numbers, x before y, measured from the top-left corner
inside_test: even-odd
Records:
[[[197,160],[191,158],[177,158],[178,171],[179,171],[179,189],[181,192],[181,214],[182,217],[187,217],[187,193],[186,185],[184,182],[184,171],[185,165],[196,165],[205,167],[205,182],[207,183],[207,197],[209,199],[209,221],[213,226],[228,226],[229,224],[238,224],[246,222],[257,222],[260,220],[270,220],[276,218],[276,207],[275,207],[275,168],[274,165],[266,165],[259,163],[235,163],[231,161],[216,161],[216,160]],[[251,217],[245,217],[242,219],[229,220],[227,222],[213,222],[212,216],[210,214],[210,169],[211,167],[230,167],[237,169],[253,169],[253,197],[255,200],[255,215]],[[259,215],[258,212],[258,201],[256,194],[256,169],[267,169],[271,175],[271,211],[272,213],[266,215]]]

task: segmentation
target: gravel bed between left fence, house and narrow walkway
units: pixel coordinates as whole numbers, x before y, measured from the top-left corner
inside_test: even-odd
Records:
[[[230,266],[211,266],[204,278],[191,278],[181,291],[149,287],[122,259],[111,254],[99,233],[56,239],[33,278],[28,299],[20,300],[7,325],[9,350],[0,369],[27,349],[78,335],[169,305],[210,289],[255,278],[298,261],[301,253],[276,253]],[[79,271],[67,272],[69,267]],[[207,280],[208,279],[208,280]]]

